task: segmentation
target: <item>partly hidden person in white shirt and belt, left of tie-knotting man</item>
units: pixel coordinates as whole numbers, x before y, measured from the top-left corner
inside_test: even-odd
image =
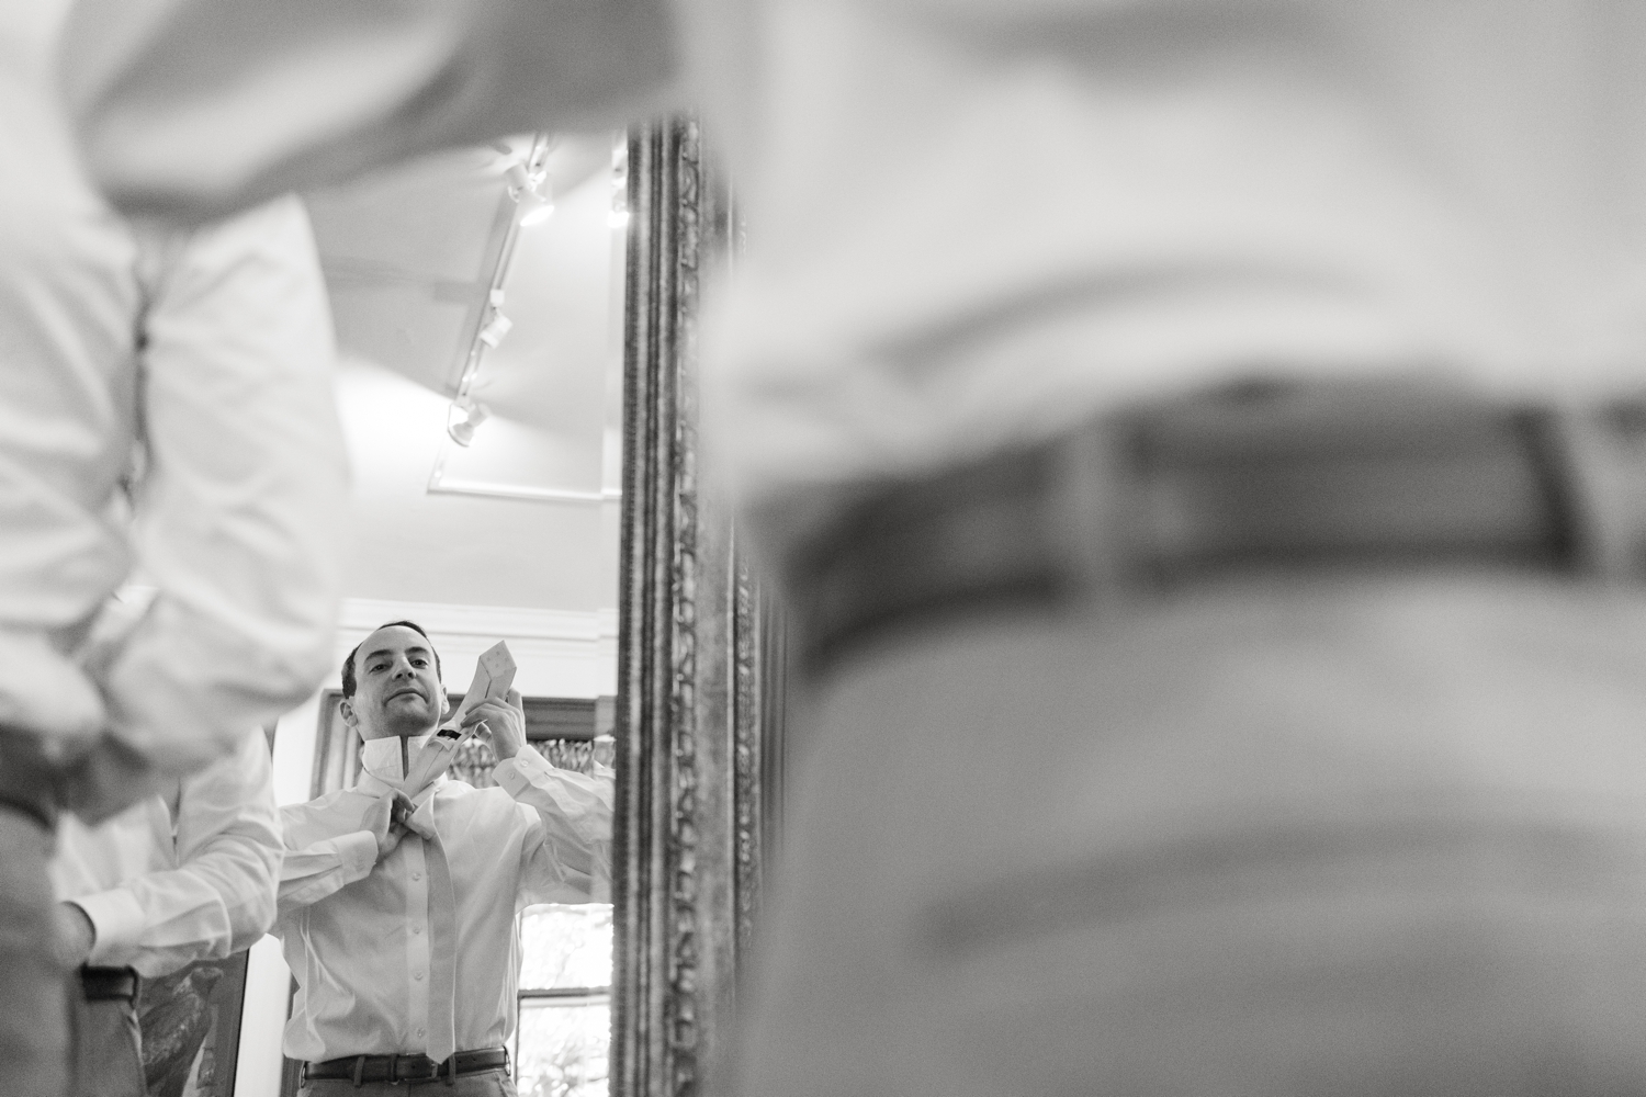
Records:
[[[64,959],[84,964],[71,1097],[142,1097],[143,980],[250,947],[275,921],[280,809],[268,743],[239,750],[89,827],[58,829]]]

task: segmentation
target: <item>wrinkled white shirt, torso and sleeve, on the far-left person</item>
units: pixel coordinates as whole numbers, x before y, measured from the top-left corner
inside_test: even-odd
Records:
[[[328,669],[331,317],[295,197],[193,234],[104,206],[58,105],[61,7],[0,18],[0,724],[109,732],[181,771]],[[146,615],[77,660],[133,567],[158,587]]]

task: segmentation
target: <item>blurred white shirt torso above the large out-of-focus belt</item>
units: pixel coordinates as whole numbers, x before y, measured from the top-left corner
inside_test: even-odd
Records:
[[[1646,8],[700,0],[744,497],[1238,373],[1646,378]]]

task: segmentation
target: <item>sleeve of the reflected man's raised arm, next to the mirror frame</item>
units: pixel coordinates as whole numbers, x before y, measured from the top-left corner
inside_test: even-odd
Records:
[[[609,903],[614,785],[611,770],[594,776],[560,770],[525,747],[492,776],[533,819],[520,850],[527,903]]]

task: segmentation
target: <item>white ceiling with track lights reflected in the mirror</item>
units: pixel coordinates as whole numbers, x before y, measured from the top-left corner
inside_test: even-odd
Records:
[[[305,196],[356,479],[351,597],[616,605],[622,247],[612,137],[537,148],[555,211],[517,225],[530,137]],[[512,321],[489,347],[491,291]],[[472,446],[446,426],[487,405]]]

